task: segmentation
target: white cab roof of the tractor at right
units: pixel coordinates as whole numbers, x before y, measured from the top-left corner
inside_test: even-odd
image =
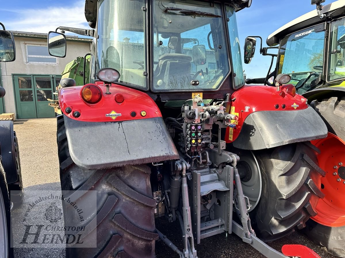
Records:
[[[344,14],[345,11],[345,1],[344,0],[338,0],[333,3],[327,4],[322,8],[321,13],[328,14],[330,12],[332,13],[332,17],[337,17],[341,14]],[[278,30],[270,34],[266,40],[267,45],[269,46],[275,46],[279,44],[279,40],[286,35],[296,32],[298,30],[302,30],[305,28],[308,28],[310,26],[325,22],[325,19],[320,19],[316,8],[315,10],[308,12],[306,14],[303,14],[302,16],[296,18],[295,20],[292,20],[282,27],[280,27]]]

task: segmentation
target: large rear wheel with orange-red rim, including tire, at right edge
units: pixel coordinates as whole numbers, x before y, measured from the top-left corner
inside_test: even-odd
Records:
[[[329,133],[325,139],[312,141],[321,151],[317,158],[326,171],[321,180],[325,197],[315,204],[317,215],[307,222],[304,232],[330,254],[345,257],[345,98],[315,100],[311,106],[325,121]]]

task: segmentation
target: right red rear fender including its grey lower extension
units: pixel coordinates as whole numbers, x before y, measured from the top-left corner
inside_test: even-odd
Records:
[[[245,86],[237,90],[227,107],[238,115],[228,127],[225,141],[245,150],[273,148],[327,136],[327,127],[305,97],[280,95],[276,87]],[[283,108],[285,105],[285,108]]]

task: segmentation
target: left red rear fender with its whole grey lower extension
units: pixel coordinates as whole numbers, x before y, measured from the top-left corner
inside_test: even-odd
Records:
[[[83,101],[84,86],[59,91],[73,162],[92,170],[179,159],[159,108],[146,93],[112,84],[106,94],[103,83],[97,84],[102,92],[97,104]],[[115,101],[117,94],[122,103]]]

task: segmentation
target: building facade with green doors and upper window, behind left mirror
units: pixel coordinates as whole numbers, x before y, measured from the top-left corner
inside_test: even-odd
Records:
[[[6,95],[0,99],[0,114],[14,113],[17,119],[54,117],[47,99],[54,99],[61,72],[78,56],[90,53],[91,40],[67,36],[65,58],[50,56],[47,34],[13,32],[16,60],[0,62],[0,86]]]

